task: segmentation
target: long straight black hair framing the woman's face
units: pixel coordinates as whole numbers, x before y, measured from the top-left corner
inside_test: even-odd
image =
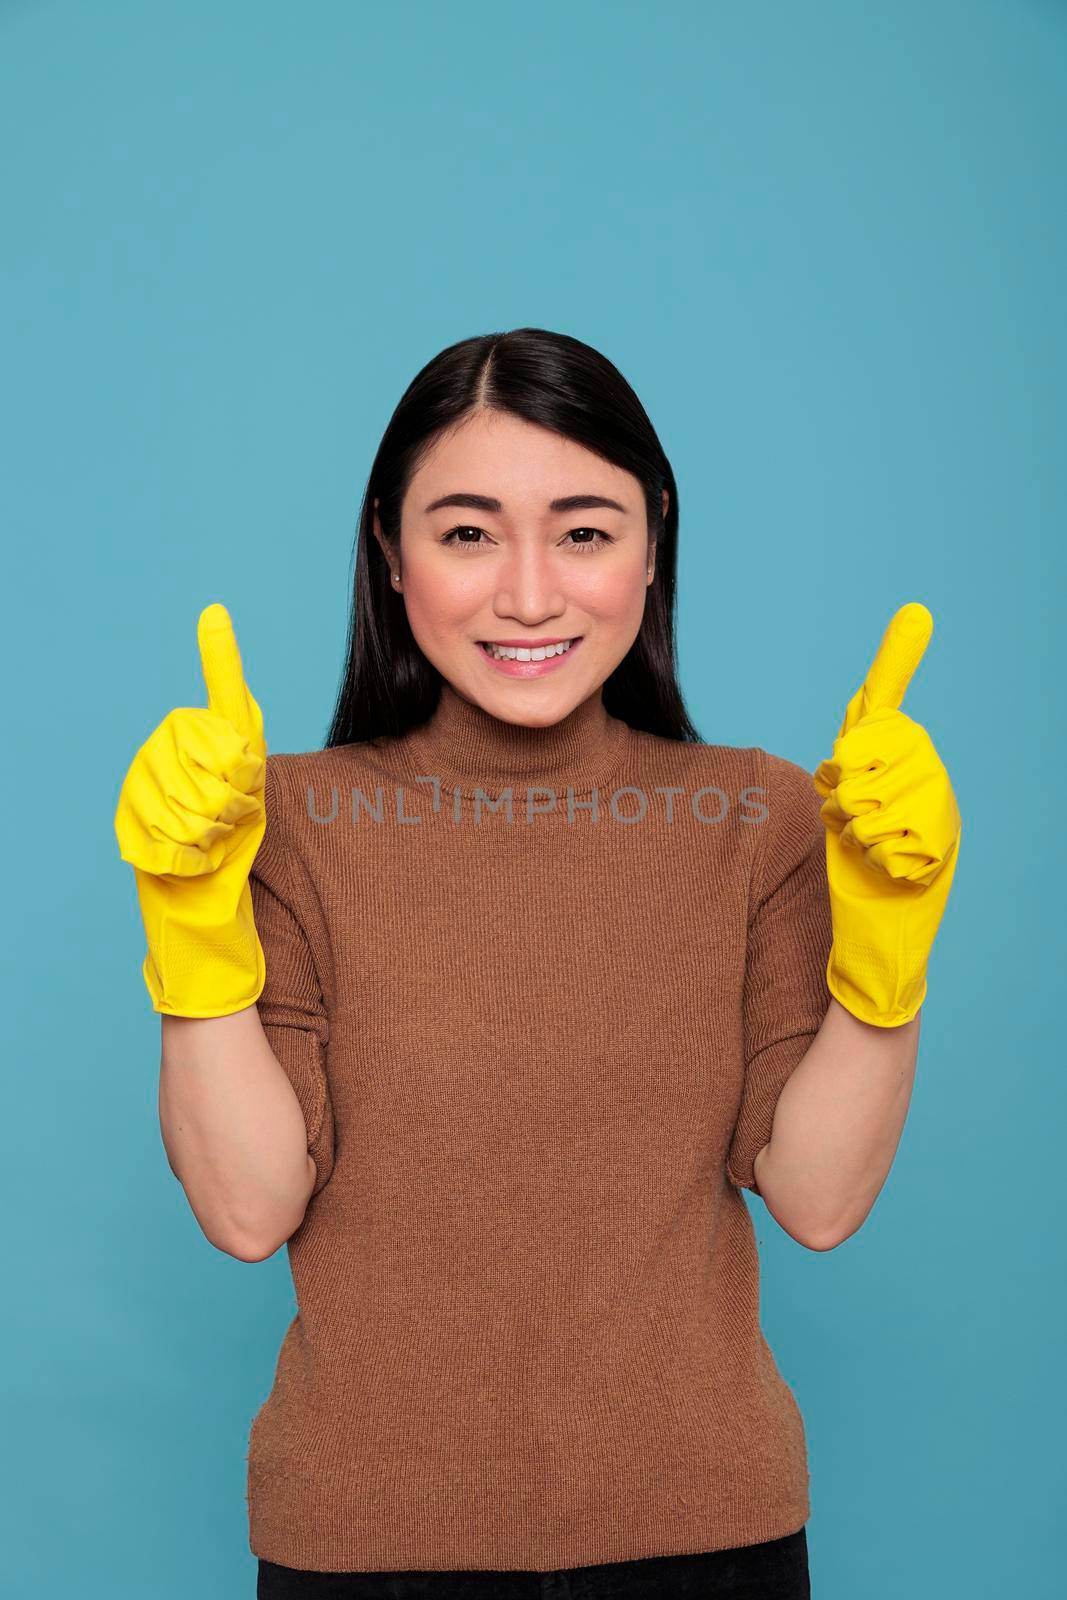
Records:
[[[638,635],[603,683],[603,704],[630,728],[699,741],[675,677],[678,491],[656,429],[622,373],[592,346],[514,328],[448,346],[414,376],[389,421],[360,507],[347,662],[325,747],[403,734],[437,707],[442,674],[419,650],[392,589],[374,538],[374,501],[382,536],[398,549],[400,507],[421,462],[443,430],[485,408],[584,445],[641,483],[656,573]]]

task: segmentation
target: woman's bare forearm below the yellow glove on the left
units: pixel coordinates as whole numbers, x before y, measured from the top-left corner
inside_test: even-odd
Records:
[[[242,1261],[274,1254],[315,1181],[299,1101],[256,1006],[160,1018],[160,1131],[205,1235]]]

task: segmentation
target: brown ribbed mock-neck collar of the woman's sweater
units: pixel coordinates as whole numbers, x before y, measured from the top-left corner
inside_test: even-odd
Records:
[[[504,722],[442,680],[430,718],[392,742],[392,762],[406,779],[438,778],[442,789],[544,787],[589,794],[617,766],[627,723],[611,717],[600,690],[560,722],[531,728]]]

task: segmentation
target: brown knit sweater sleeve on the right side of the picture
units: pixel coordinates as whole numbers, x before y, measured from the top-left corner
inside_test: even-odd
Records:
[[[758,750],[766,794],[752,867],[742,997],[744,1088],[726,1176],[760,1194],[753,1163],[782,1088],[825,1018],[833,930],[822,800],[809,773]]]

